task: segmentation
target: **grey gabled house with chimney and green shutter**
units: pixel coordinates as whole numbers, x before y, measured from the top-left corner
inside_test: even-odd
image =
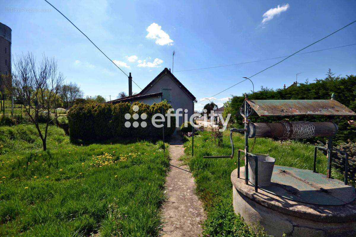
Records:
[[[172,105],[174,112],[176,112],[177,109],[183,110],[179,112],[179,114],[183,115],[182,117],[179,117],[179,127],[183,122],[186,122],[187,119],[184,119],[184,117],[187,117],[189,121],[190,116],[193,115],[194,102],[196,101],[195,96],[190,93],[190,91],[172,74],[171,70],[168,70],[168,68],[164,68],[155,79],[148,83],[148,85],[136,95],[132,95],[132,77],[130,72],[129,96],[114,99],[106,103],[142,102],[151,105],[163,100],[166,100]],[[185,114],[188,116],[184,116]]]

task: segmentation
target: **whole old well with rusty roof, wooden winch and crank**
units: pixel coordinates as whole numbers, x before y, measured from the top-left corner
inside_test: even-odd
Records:
[[[244,117],[245,127],[230,130],[231,155],[204,157],[234,158],[232,133],[244,131],[245,147],[238,149],[238,168],[231,173],[236,214],[240,214],[248,224],[256,228],[256,231],[263,227],[271,236],[356,236],[355,188],[348,185],[347,153],[343,152],[344,180],[339,181],[331,177],[333,136],[338,130],[336,118],[356,116],[356,113],[337,102],[333,96],[326,100],[249,100],[247,95],[240,113]],[[253,116],[274,116],[284,119],[300,115],[325,116],[328,121],[251,122]],[[266,184],[261,182],[266,177],[262,173],[266,172],[265,164],[258,160],[257,154],[248,151],[248,139],[262,137],[281,140],[327,137],[328,143],[326,147],[315,146],[313,171],[274,166],[273,170],[270,169],[271,182]],[[317,150],[324,150],[327,153],[326,175],[316,171]],[[241,152],[245,153],[245,161],[249,161],[245,162],[245,167],[240,167]],[[268,186],[259,185],[258,177],[261,184]]]

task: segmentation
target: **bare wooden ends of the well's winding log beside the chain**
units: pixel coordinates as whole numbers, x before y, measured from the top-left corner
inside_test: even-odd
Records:
[[[313,137],[329,137],[337,133],[337,125],[333,122],[311,122],[315,127]],[[248,138],[281,138],[284,134],[282,123],[250,123]]]

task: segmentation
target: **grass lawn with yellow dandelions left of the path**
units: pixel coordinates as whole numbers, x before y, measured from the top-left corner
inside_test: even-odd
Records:
[[[162,144],[161,144],[162,145]],[[81,145],[50,126],[0,127],[0,236],[157,236],[168,152],[148,141]]]

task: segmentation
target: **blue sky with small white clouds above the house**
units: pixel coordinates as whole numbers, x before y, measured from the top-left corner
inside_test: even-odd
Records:
[[[356,1],[349,0],[50,2],[122,70],[132,72],[141,88],[163,68],[172,68],[173,50],[174,71],[284,56],[354,21],[356,10]],[[115,99],[128,91],[127,77],[45,1],[0,0],[0,6],[0,22],[12,29],[13,55],[54,56],[66,80],[80,85],[85,95]],[[353,43],[356,23],[303,52]],[[356,74],[355,55],[356,45],[297,55],[252,80],[256,90],[288,86],[298,72],[303,72],[298,81],[323,78],[328,68],[337,75]],[[173,74],[200,101],[278,60]],[[230,95],[250,90],[251,82],[245,81],[213,101],[220,106]],[[133,84],[133,91],[141,90]]]

